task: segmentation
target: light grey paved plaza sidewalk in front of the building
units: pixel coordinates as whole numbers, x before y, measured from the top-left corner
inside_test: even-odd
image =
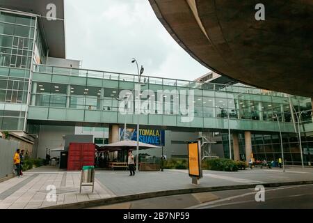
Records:
[[[288,167],[282,169],[248,169],[238,172],[203,171],[200,185],[192,185],[188,170],[139,172],[129,176],[128,171],[96,171],[95,191],[83,187],[79,194],[79,171],[61,171],[39,167],[24,172],[24,178],[11,178],[0,183],[0,208],[43,208],[79,201],[113,198],[163,190],[198,187],[283,183],[313,180],[313,169]],[[47,185],[56,186],[56,202],[46,200]]]

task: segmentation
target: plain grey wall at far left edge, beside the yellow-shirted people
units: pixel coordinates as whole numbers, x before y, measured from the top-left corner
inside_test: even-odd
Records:
[[[13,174],[13,156],[17,146],[16,141],[0,139],[0,178]]]

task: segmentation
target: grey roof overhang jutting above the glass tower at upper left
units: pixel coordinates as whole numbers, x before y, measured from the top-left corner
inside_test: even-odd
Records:
[[[47,20],[47,5],[54,3],[56,6],[57,20]],[[45,35],[49,48],[49,56],[65,59],[65,24],[63,0],[1,0],[1,8],[33,13],[42,16],[40,28]]]

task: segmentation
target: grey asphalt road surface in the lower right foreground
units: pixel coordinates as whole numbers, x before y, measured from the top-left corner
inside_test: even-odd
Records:
[[[225,190],[143,199],[96,209],[280,209],[313,208],[313,185],[266,188],[264,201],[255,201],[259,190]],[[258,194],[259,195],[259,194]],[[259,197],[259,196],[257,196]]]

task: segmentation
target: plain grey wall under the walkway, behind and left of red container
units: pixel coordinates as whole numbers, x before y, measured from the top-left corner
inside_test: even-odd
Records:
[[[74,126],[41,125],[38,138],[37,157],[46,157],[46,148],[58,148],[64,146],[63,136],[74,134]]]

